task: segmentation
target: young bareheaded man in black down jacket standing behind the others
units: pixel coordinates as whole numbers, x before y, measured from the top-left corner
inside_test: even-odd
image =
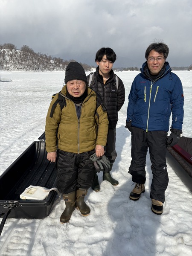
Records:
[[[116,84],[116,75],[112,68],[113,63],[116,61],[116,54],[111,48],[101,48],[96,52],[95,58],[96,72],[93,73],[93,80],[90,84],[90,88],[93,89],[101,98],[102,102],[108,113],[109,130],[108,139],[105,147],[105,156],[108,157],[111,163],[111,169],[116,159],[116,125],[118,121],[118,111],[121,109],[125,101],[125,87],[122,80],[118,79],[118,88]],[[87,76],[89,81],[90,75]],[[107,180],[113,186],[119,184],[119,182],[111,177],[110,171],[103,172],[103,180]],[[92,189],[96,192],[100,190],[98,176],[95,173]]]

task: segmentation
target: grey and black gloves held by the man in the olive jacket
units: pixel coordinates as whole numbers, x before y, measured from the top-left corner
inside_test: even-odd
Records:
[[[92,156],[90,156],[90,160],[93,161],[96,172],[108,172],[111,167],[110,161],[105,155],[102,157],[97,157],[96,153],[94,153]]]

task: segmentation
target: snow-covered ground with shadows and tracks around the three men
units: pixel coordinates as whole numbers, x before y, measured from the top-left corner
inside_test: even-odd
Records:
[[[183,135],[192,137],[192,72],[175,72],[185,96]],[[88,74],[88,73],[87,73]],[[124,82],[126,101],[116,129],[118,157],[112,175],[118,186],[102,181],[101,191],[89,190],[91,213],[78,210],[67,224],[60,224],[61,200],[44,219],[8,218],[0,237],[1,256],[191,256],[192,193],[168,165],[169,185],[163,214],[151,212],[151,163],[147,157],[145,193],[130,201],[133,189],[128,167],[131,136],[124,128],[128,93],[137,71],[116,73]],[[0,71],[0,175],[44,132],[51,96],[62,88],[64,72]],[[10,177],[12,178],[12,177]],[[1,221],[1,219],[0,219]]]

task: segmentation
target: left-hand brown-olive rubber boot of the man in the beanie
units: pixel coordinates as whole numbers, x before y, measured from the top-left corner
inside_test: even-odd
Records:
[[[63,199],[65,201],[65,209],[61,214],[60,221],[61,223],[66,223],[70,220],[74,209],[76,209],[76,191],[63,195]]]

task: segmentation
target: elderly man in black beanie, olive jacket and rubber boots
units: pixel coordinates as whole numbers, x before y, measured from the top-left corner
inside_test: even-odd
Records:
[[[82,215],[90,213],[84,202],[94,177],[90,156],[104,155],[108,134],[107,113],[87,86],[86,74],[78,62],[67,66],[65,83],[60,95],[66,104],[62,109],[56,104],[51,114],[58,101],[57,93],[49,106],[45,127],[47,159],[55,162],[58,156],[58,189],[66,205],[61,223],[70,220],[76,206]]]

